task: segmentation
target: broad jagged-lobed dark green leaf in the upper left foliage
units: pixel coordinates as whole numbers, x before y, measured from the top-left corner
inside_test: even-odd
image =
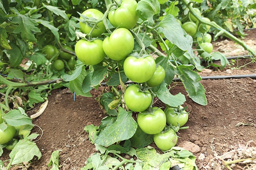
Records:
[[[37,28],[38,23],[29,16],[21,15],[14,17],[12,19],[12,23],[18,23],[19,25],[13,30],[14,34],[21,33],[21,38],[31,41],[31,42],[37,42],[37,39],[33,35],[32,32],[40,33],[40,29]]]

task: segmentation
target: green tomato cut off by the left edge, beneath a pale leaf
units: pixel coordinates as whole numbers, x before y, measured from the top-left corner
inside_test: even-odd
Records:
[[[16,129],[14,128],[14,126],[11,126],[9,124],[1,124],[0,127],[6,127],[5,130],[2,130],[0,128],[0,144],[5,144],[14,137]]]

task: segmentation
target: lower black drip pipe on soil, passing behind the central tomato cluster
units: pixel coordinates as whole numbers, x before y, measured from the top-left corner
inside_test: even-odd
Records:
[[[202,80],[218,80],[218,79],[244,79],[244,78],[251,78],[256,79],[256,74],[250,74],[250,75],[228,75],[228,76],[201,76]],[[180,82],[180,78],[174,78],[173,82]],[[124,84],[133,84],[136,82],[128,81]],[[107,86],[107,83],[101,83],[102,86]]]

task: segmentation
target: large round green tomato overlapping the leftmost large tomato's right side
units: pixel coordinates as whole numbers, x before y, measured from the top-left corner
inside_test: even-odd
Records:
[[[112,60],[122,60],[133,51],[133,35],[126,28],[118,28],[103,41],[103,50]]]

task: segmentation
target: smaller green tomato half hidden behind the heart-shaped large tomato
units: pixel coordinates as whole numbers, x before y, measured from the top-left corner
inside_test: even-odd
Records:
[[[156,67],[154,75],[147,81],[149,87],[158,86],[164,81],[165,70],[161,65]]]

